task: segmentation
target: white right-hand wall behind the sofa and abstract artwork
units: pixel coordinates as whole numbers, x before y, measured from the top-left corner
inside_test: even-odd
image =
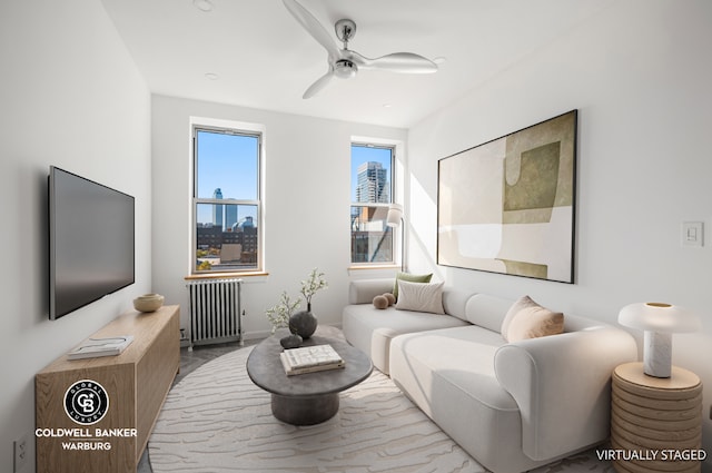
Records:
[[[673,363],[700,375],[712,456],[712,2],[611,2],[565,37],[409,130],[409,266],[448,284],[615,322],[629,303],[702,314]],[[447,65],[443,68],[445,69]],[[437,266],[437,160],[578,109],[576,284]],[[703,248],[681,246],[702,220]],[[637,335],[637,334],[636,334]],[[708,467],[710,467],[708,460]]]

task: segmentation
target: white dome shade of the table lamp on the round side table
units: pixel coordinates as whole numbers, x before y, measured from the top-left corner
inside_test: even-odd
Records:
[[[619,313],[619,323],[631,328],[665,334],[696,332],[701,328],[700,318],[692,311],[665,303],[626,305]]]

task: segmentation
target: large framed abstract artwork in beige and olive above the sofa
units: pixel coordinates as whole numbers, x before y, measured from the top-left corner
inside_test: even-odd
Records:
[[[438,161],[437,264],[573,284],[576,118]]]

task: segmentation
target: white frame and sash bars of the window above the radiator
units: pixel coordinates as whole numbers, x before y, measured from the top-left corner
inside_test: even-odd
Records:
[[[235,199],[235,198],[201,198],[198,197],[198,134],[212,132],[230,136],[245,136],[257,138],[257,199]],[[217,125],[206,124],[205,121],[192,121],[190,127],[191,139],[191,186],[190,186],[190,276],[192,278],[210,278],[226,275],[244,276],[249,274],[264,273],[264,130],[260,127],[248,126],[247,124],[220,122]],[[257,207],[257,254],[254,266],[244,269],[210,269],[199,270],[196,267],[198,252],[198,206],[199,205],[236,205],[236,206],[255,206]]]

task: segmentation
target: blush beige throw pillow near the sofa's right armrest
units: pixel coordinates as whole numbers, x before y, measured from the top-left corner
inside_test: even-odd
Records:
[[[530,296],[515,302],[502,321],[507,342],[557,335],[564,332],[564,314],[536,304]]]

